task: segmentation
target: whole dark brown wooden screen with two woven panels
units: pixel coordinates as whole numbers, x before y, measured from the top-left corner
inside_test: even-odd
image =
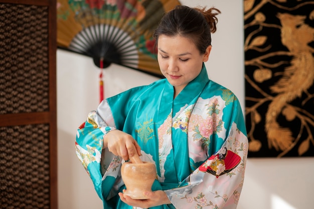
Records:
[[[56,1],[0,0],[0,208],[57,208]]]

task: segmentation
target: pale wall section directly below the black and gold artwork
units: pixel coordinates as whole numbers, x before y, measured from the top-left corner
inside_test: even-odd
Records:
[[[314,159],[311,157],[249,158],[238,208],[251,208],[252,205],[254,209],[309,208],[306,199],[312,196],[304,191],[314,187],[314,180],[308,177],[313,172]]]

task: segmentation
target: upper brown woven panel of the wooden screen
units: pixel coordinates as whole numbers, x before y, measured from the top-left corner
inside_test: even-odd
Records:
[[[0,4],[0,114],[47,111],[48,8]]]

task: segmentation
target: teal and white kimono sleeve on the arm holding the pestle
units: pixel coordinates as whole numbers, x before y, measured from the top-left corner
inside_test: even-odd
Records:
[[[103,100],[77,130],[76,154],[103,200],[104,208],[110,208],[106,204],[114,199],[122,184],[119,181],[122,158],[103,148],[103,137],[112,130],[123,130],[131,106],[144,90],[145,87],[137,87]]]

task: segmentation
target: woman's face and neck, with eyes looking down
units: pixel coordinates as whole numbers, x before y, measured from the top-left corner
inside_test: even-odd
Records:
[[[163,75],[175,87],[176,95],[200,74],[210,50],[211,46],[201,55],[193,41],[188,38],[159,36],[158,63]]]

